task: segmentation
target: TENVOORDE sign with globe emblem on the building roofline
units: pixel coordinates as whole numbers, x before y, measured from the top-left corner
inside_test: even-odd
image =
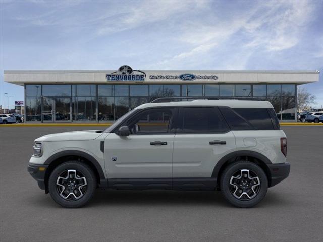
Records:
[[[129,66],[122,66],[118,71],[111,74],[106,74],[107,81],[144,81],[146,73],[133,70]]]

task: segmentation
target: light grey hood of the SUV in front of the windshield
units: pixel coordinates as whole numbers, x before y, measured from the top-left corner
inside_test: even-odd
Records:
[[[63,132],[58,134],[44,135],[37,139],[35,142],[45,141],[73,141],[73,140],[94,140],[101,135],[101,130],[82,130]]]

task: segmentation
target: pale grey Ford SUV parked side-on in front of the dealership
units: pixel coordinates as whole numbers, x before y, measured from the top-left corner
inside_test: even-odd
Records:
[[[28,171],[68,208],[83,206],[97,187],[221,190],[246,208],[289,175],[286,152],[270,102],[157,99],[104,131],[36,139]]]

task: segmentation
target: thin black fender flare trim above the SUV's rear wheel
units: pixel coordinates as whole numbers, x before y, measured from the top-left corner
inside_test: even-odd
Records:
[[[239,151],[234,151],[231,152],[227,155],[225,155],[224,157],[222,157],[218,163],[216,164],[216,166],[213,169],[212,172],[212,177],[217,178],[219,175],[219,171],[221,169],[221,167],[227,162],[232,162],[235,161],[237,157],[239,156],[251,156],[254,157],[260,161],[262,161],[264,164],[272,164],[272,162],[270,161],[270,159],[268,159],[266,156],[264,156],[263,154],[260,154],[259,152],[256,151],[251,151],[251,150],[239,150]]]

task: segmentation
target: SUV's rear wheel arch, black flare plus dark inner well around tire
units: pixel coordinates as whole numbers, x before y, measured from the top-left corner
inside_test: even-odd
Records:
[[[267,176],[268,187],[271,186],[271,182],[272,182],[271,171],[267,166],[267,164],[272,164],[270,159],[268,159],[263,154],[260,154],[259,152],[249,151],[249,150],[239,150],[236,152],[229,153],[224,157],[222,157],[214,167],[212,172],[212,177],[217,178],[217,188],[220,188],[219,184],[220,184],[221,175],[224,169],[234,161],[239,161],[239,160],[247,160],[259,165]]]

